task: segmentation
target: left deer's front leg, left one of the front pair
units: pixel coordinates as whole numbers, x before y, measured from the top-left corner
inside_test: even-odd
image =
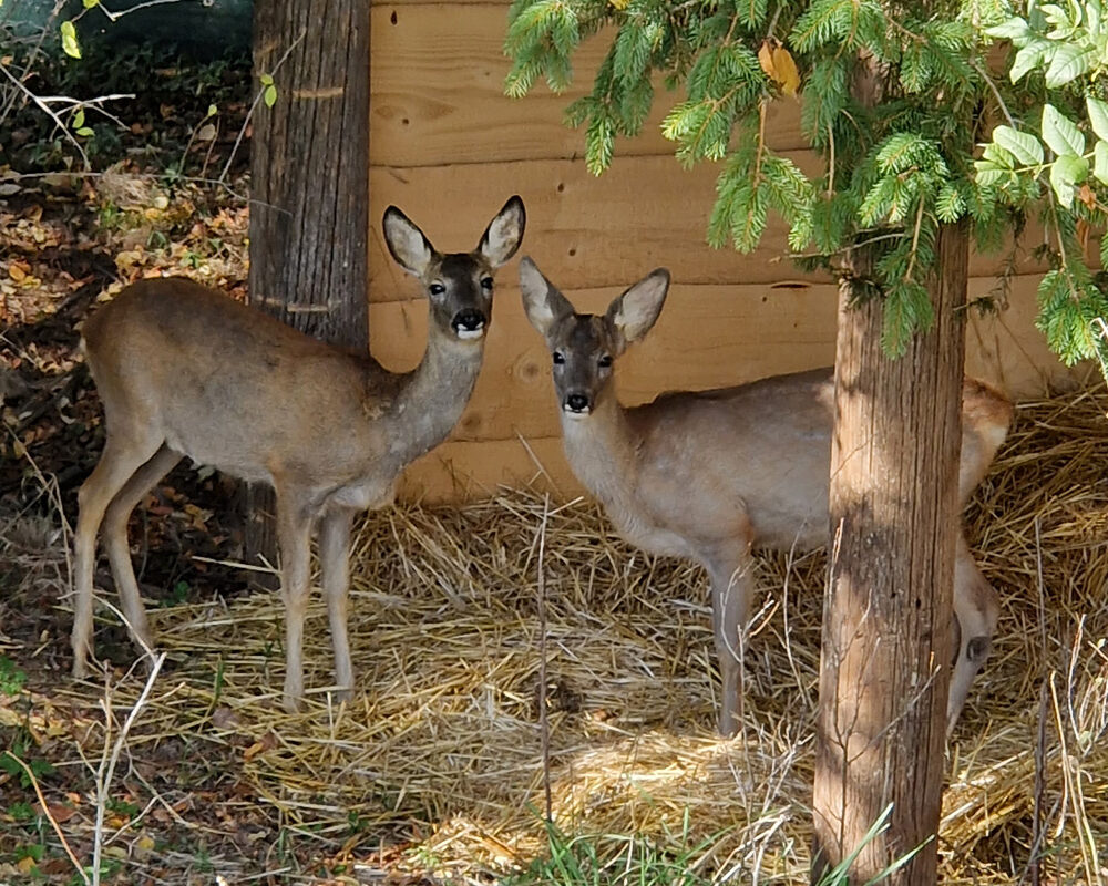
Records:
[[[304,698],[304,617],[308,610],[311,515],[297,496],[277,490],[277,544],[285,602],[285,710],[294,713]]]

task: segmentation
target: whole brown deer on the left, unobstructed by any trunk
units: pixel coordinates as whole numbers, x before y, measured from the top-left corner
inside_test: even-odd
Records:
[[[512,197],[472,253],[443,255],[394,206],[384,240],[428,298],[427,352],[393,373],[305,336],[184,278],[127,287],[84,326],[89,369],[104,404],[104,452],[78,495],[73,673],[92,648],[96,530],[129,626],[152,647],[127,519],[182,456],[277,493],[281,594],[287,609],[284,703],[304,694],[301,646],[309,548],[319,528],[322,586],[335,648],[335,682],[353,687],[347,639],[348,559],[355,513],[392,501],[401,471],[441,443],[473,391],[492,309],[493,271],[523,238]]]

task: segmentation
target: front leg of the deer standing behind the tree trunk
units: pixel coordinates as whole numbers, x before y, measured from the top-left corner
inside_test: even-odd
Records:
[[[719,733],[730,738],[742,720],[742,659],[752,585],[749,545],[720,554],[708,565],[716,658],[722,683]]]

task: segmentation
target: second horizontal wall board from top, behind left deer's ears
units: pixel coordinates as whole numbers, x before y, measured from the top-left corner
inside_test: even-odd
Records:
[[[807,171],[818,159],[790,157]],[[705,243],[716,198],[717,169],[683,169],[673,157],[625,157],[601,177],[581,162],[519,161],[370,169],[370,299],[410,298],[414,284],[392,261],[380,219],[389,204],[407,213],[443,251],[472,249],[512,194],[523,197],[527,230],[523,254],[534,257],[562,288],[626,286],[659,265],[683,285],[825,282],[786,258],[786,226],[770,216],[759,248],[740,255]],[[1028,233],[1026,241],[1033,243]],[[992,276],[1002,256],[974,256],[971,274]],[[1024,250],[1016,272],[1039,270]],[[514,268],[505,275],[514,274]]]

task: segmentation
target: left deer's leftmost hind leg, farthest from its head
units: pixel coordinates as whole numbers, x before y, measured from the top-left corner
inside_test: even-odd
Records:
[[[92,583],[96,567],[96,532],[104,512],[127,481],[150,461],[161,440],[109,436],[89,478],[81,485],[78,497],[76,532],[73,539],[73,676],[88,676],[88,657],[92,652]],[[125,534],[125,530],[124,530]],[[126,540],[124,539],[124,546]]]

